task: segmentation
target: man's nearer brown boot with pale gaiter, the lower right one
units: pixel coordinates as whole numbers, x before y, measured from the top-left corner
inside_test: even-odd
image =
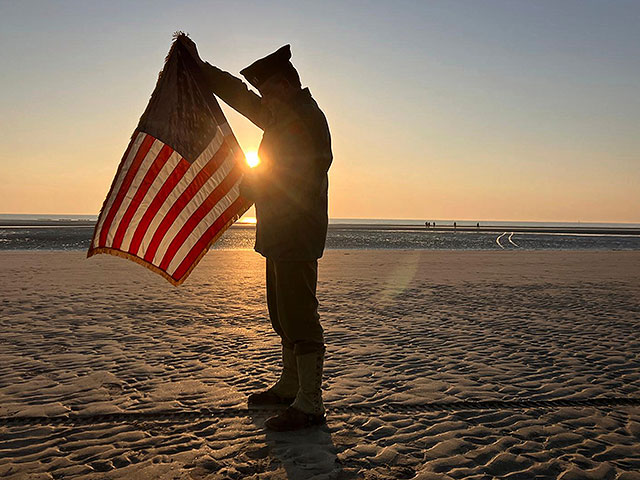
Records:
[[[299,389],[294,402],[280,415],[271,417],[265,427],[277,432],[301,430],[326,423],[322,403],[324,351],[297,355]]]

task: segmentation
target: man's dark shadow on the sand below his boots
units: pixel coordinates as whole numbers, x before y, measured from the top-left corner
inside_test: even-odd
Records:
[[[263,429],[266,418],[264,414],[251,415],[254,425]],[[331,430],[327,425],[298,432],[264,431],[269,455],[282,464],[287,479],[339,477],[342,468],[337,457],[338,449],[333,444]]]

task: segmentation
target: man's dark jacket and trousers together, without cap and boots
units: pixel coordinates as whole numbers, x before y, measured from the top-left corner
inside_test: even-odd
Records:
[[[255,250],[267,258],[274,328],[285,346],[322,348],[315,289],[327,237],[327,172],[333,158],[327,121],[306,88],[271,112],[239,78],[211,65],[205,73],[217,96],[264,131],[261,163],[247,173],[241,193],[255,202]]]

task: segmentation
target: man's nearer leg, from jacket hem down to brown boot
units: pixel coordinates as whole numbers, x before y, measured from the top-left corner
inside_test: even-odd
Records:
[[[278,319],[293,343],[299,389],[292,409],[273,417],[273,430],[297,430],[324,423],[322,371],[324,334],[318,315],[316,286],[318,262],[274,262],[277,278]]]

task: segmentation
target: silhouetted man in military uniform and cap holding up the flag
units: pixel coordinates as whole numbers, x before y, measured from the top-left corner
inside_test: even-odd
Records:
[[[264,130],[261,163],[245,173],[243,197],[256,207],[255,250],[266,258],[267,307],[282,343],[282,372],[250,406],[287,406],[265,422],[271,430],[299,430],[326,422],[322,402],[324,335],[318,315],[318,259],[327,237],[327,172],[332,162],[326,118],[302,88],[286,45],[239,78],[198,61],[213,93]],[[238,352],[242,354],[242,352]]]

